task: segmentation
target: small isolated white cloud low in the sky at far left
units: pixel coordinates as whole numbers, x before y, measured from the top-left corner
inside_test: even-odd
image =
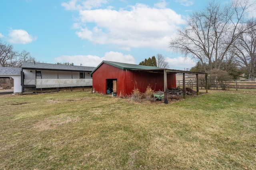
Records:
[[[14,43],[14,44],[27,44],[37,39],[37,37],[33,37],[32,35],[29,35],[28,32],[23,29],[10,30],[10,33],[8,34],[8,36],[9,36],[8,42]]]

